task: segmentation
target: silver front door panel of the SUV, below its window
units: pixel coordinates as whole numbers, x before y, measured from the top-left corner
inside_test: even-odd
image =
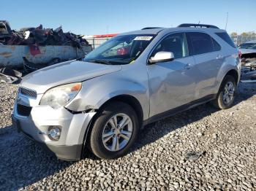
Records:
[[[148,65],[149,117],[195,100],[195,74],[192,57]]]

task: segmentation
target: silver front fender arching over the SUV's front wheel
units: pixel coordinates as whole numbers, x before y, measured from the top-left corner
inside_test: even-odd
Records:
[[[82,90],[66,107],[74,112],[99,109],[117,95],[130,95],[136,98],[143,109],[143,117],[148,117],[149,96],[147,80],[135,81],[130,77],[108,74],[83,82]],[[143,119],[144,120],[144,119]]]

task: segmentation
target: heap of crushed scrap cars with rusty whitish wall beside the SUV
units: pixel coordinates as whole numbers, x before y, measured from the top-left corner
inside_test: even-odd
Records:
[[[23,74],[37,69],[82,58],[92,50],[83,36],[64,33],[61,26],[12,30],[5,20],[0,20],[0,82],[15,82]],[[13,69],[22,69],[20,74]]]

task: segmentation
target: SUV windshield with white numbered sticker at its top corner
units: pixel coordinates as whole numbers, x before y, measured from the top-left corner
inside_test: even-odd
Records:
[[[146,49],[154,36],[152,34],[116,36],[91,51],[83,61],[116,65],[131,63]]]

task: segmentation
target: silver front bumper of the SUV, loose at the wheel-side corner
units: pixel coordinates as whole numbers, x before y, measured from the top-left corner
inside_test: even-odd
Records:
[[[21,97],[18,97],[12,113],[12,123],[18,131],[44,144],[62,160],[79,160],[86,130],[96,113],[72,114],[64,107],[53,109],[50,106],[33,106],[33,101]],[[61,129],[58,141],[50,139],[49,128],[53,126]]]

